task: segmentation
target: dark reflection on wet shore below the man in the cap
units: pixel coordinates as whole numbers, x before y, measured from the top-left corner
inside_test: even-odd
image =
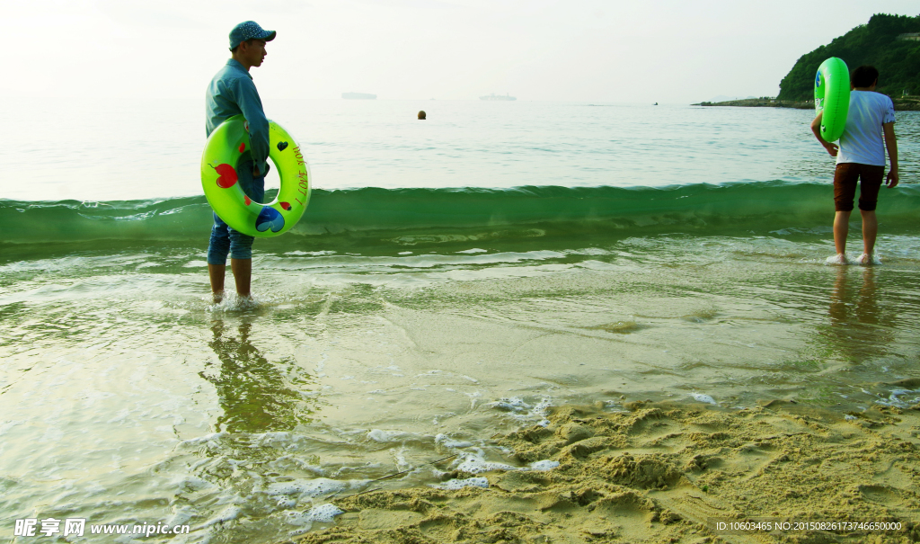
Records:
[[[312,421],[316,400],[304,395],[313,383],[293,360],[270,362],[249,340],[252,323],[244,321],[237,335],[222,319],[211,327],[208,342],[221,361],[220,371],[199,375],[211,382],[224,413],[217,418],[218,431],[265,433],[291,431]]]

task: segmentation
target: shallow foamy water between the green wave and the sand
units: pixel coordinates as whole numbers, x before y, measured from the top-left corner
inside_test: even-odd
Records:
[[[8,262],[0,511],[284,538],[336,496],[511,463],[489,438],[550,405],[903,406],[918,239],[881,242],[906,256],[826,266],[820,237],[684,236],[262,252],[254,307],[209,305],[195,252]]]

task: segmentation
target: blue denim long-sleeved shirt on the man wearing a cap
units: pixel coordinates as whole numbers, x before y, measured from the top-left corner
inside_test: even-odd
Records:
[[[217,125],[234,115],[243,114],[249,123],[249,147],[259,173],[269,171],[266,159],[269,157],[269,120],[262,110],[262,100],[256,84],[252,82],[243,64],[233,59],[214,75],[204,97],[206,130],[210,136]]]

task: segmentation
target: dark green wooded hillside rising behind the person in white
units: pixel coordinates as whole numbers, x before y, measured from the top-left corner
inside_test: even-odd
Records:
[[[828,57],[839,57],[850,70],[861,64],[879,69],[877,91],[901,97],[906,89],[920,95],[920,41],[898,40],[900,34],[920,32],[920,16],[876,14],[840,38],[804,54],[779,83],[779,100],[814,98],[814,75]]]

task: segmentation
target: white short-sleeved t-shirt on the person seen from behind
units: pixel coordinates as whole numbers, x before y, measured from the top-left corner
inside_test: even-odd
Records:
[[[885,139],[882,123],[894,122],[891,98],[873,91],[850,91],[844,134],[840,136],[837,164],[856,162],[885,166]]]

